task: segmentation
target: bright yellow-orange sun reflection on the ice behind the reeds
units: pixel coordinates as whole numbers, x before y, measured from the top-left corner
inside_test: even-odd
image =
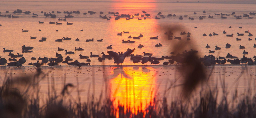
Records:
[[[119,104],[124,106],[124,111],[130,108],[132,113],[137,114],[138,110],[145,110],[153,102],[155,76],[150,71],[153,71],[152,67],[138,67],[137,70],[134,67],[118,67],[113,70],[111,98],[117,111]]]

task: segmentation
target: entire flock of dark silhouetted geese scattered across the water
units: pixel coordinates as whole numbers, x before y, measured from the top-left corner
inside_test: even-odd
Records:
[[[9,11],[8,11],[9,12]],[[8,13],[7,11],[6,11],[6,13]],[[0,12],[1,13],[1,12]],[[13,12],[14,14],[15,13],[22,13],[22,10],[19,10],[19,9],[17,9],[16,11],[14,11]],[[29,14],[29,13],[31,13],[30,11],[26,11],[26,12],[23,12],[23,13],[25,13],[25,14]],[[56,15],[54,15],[54,14],[52,14],[52,13],[54,13],[54,11],[52,11],[52,13],[46,13],[46,12],[41,12],[41,13],[44,13],[44,16],[45,17],[51,17],[51,18],[56,18]],[[61,13],[60,11],[57,11],[57,13]],[[64,21],[66,21],[66,18],[73,18],[74,16],[72,16],[72,15],[70,15],[70,14],[72,14],[72,13],[76,13],[76,14],[79,14],[80,13],[80,11],[64,11],[64,13],[67,13],[68,15],[66,16],[65,15],[65,17],[64,17],[64,19],[58,19],[58,20],[64,20]],[[89,14],[95,14],[96,12],[93,12],[93,11],[88,11],[88,13]],[[150,16],[150,14],[148,14],[146,11],[142,11],[142,13],[144,14],[144,15],[142,15],[141,14],[141,17],[144,17],[144,19],[146,19],[146,17],[149,17]],[[205,14],[206,12],[205,11],[203,11],[203,13]],[[86,15],[87,13],[84,13],[84,15]],[[100,11],[100,14],[104,14],[102,11]],[[134,14],[134,16],[132,15],[127,15],[127,14],[121,14],[121,15],[118,15],[119,13],[118,12],[109,12],[109,14],[114,14],[114,16],[115,16],[115,20],[118,20],[119,18],[126,18],[126,20],[130,20],[130,19],[133,19],[134,18],[134,16],[140,16],[140,14],[139,13],[137,13],[137,14]],[[196,14],[196,12],[194,12],[194,14]],[[256,13],[251,13],[250,12],[250,15],[255,15]],[[162,15],[162,13],[161,12],[159,12],[157,15],[160,15],[160,17],[162,17],[162,18],[165,18],[165,16],[164,15]],[[227,17],[223,17],[223,16],[230,16],[230,14],[216,14],[215,13],[215,15],[216,16],[219,16],[219,15],[221,15],[221,19],[225,19],[225,18],[227,18]],[[236,16],[235,15],[235,12],[233,12],[231,15],[234,15],[234,17],[238,17],[237,19],[240,19],[241,17],[240,16]],[[0,15],[1,17],[7,17],[8,15]],[[10,15],[11,16],[11,15]],[[146,17],[145,17],[146,16]],[[167,17],[175,17],[176,15],[175,14],[168,14],[167,15]],[[248,17],[248,18],[251,18],[249,15],[247,15],[247,14],[244,14],[243,15],[244,17]],[[9,17],[9,16],[8,16]],[[33,16],[32,16],[33,18],[37,18],[38,17],[38,14],[35,14],[35,13],[33,13]],[[185,15],[185,16],[183,16],[183,17],[188,17],[188,15]],[[183,19],[183,17],[182,16],[180,16],[180,18],[179,19]],[[13,16],[12,15],[12,18],[18,18],[18,16]],[[100,18],[103,18],[103,19],[107,19],[107,20],[109,20],[111,17],[107,17],[106,15],[105,16],[101,16],[100,15]],[[156,16],[155,17],[156,19],[160,19],[159,18],[159,16]],[[199,17],[199,19],[203,19],[203,18],[205,18],[205,16],[200,16]],[[213,18],[213,16],[210,16],[209,15],[209,17],[208,18]],[[192,18],[190,18],[189,17],[189,19],[191,19],[192,20]],[[194,19],[194,18],[193,18]],[[138,20],[141,20],[140,18],[138,18]],[[40,21],[38,21],[38,23],[39,24],[44,24],[44,22],[40,22]],[[56,24],[56,25],[62,25],[62,23],[58,23],[58,22],[49,22],[49,24]],[[68,23],[67,22],[67,25],[73,25],[73,23]],[[195,28],[197,28],[197,27],[195,27]],[[229,28],[231,28],[231,26],[229,27]],[[239,28],[242,28],[242,27],[239,27]],[[41,31],[41,30],[39,30],[39,31]],[[56,30],[56,31],[58,31],[58,30]],[[83,31],[83,30],[80,30],[80,31]],[[28,32],[28,30],[23,30],[22,29],[22,32]],[[125,31],[123,31],[123,32],[120,32],[120,33],[117,33],[117,35],[118,36],[122,36],[122,35],[124,35],[124,34],[128,34],[129,32],[125,32]],[[233,33],[232,34],[226,34],[227,32],[225,32],[225,31],[223,31],[223,34],[225,34],[227,37],[233,37]],[[249,32],[249,30],[247,30],[247,31],[245,31],[245,33],[248,33],[248,36],[253,36],[250,32]],[[169,32],[169,33],[167,33],[167,32],[165,32],[164,33],[165,35],[167,35],[168,36],[168,40],[173,40],[173,39],[178,39],[178,40],[181,40],[181,37],[176,37],[176,36],[174,36],[173,37],[173,33],[172,32]],[[236,33],[237,34],[237,36],[244,36],[244,33]],[[186,32],[181,32],[180,33],[180,35],[187,35],[187,40],[189,41],[190,40],[190,35],[191,35],[191,33],[186,33]],[[217,34],[217,33],[210,33],[208,36],[218,36],[219,34]],[[247,34],[246,34],[247,35]],[[207,36],[206,34],[203,34],[203,36]],[[122,40],[122,43],[135,43],[135,41],[131,41],[130,39],[140,39],[140,38],[142,38],[143,37],[143,35],[140,33],[140,35],[139,36],[136,36],[136,37],[132,37],[131,35],[128,37],[129,38],[129,40],[127,40],[127,41],[125,41],[125,40]],[[36,39],[37,37],[30,37],[30,39]],[[149,37],[149,39],[150,40],[158,40],[158,38],[159,38],[159,36],[156,36],[156,37]],[[46,41],[46,37],[42,37],[41,38],[41,40],[39,40],[40,42],[43,42],[43,41]],[[62,42],[62,41],[66,41],[66,40],[71,40],[71,38],[68,38],[68,37],[63,37],[63,38],[61,38],[61,39],[57,39],[57,40],[55,40],[56,42]],[[239,39],[239,38],[236,38],[236,41],[240,41],[241,39]],[[248,39],[249,41],[251,41],[252,39]],[[256,40],[256,38],[255,38],[255,40]],[[75,41],[80,41],[78,38],[75,40]],[[86,42],[91,42],[91,41],[94,41],[94,39],[92,38],[92,39],[87,39],[86,40]],[[97,40],[97,41],[99,41],[99,42],[102,42],[103,41],[103,39],[101,39],[101,40]],[[155,47],[162,47],[163,45],[161,44],[161,43],[157,43],[156,45],[155,45]],[[112,47],[113,47],[113,45],[110,45],[110,46],[108,46],[108,47],[106,47],[107,49],[112,49]],[[143,45],[139,45],[138,46],[138,48],[143,48],[144,46]],[[226,45],[226,47],[225,48],[230,48],[231,47],[231,45],[230,44],[227,44]],[[32,49],[33,49],[34,47],[26,47],[25,45],[23,45],[22,47],[21,47],[21,50],[22,50],[22,53],[30,53],[30,52],[32,52]],[[210,46],[207,44],[206,45],[206,47],[205,48],[210,48]],[[244,46],[239,46],[239,48],[240,49],[244,49],[245,47]],[[253,48],[256,48],[256,45],[254,44],[254,46],[253,46]],[[221,48],[220,47],[218,47],[218,46],[215,46],[215,50],[220,50]],[[58,51],[64,51],[64,48],[60,48],[60,47],[58,47],[58,49],[57,49]],[[80,47],[75,47],[75,51],[83,51],[84,49],[83,48],[80,48]],[[135,64],[135,63],[141,63],[141,64],[146,64],[147,65],[147,62],[150,62],[151,63],[151,65],[152,64],[154,64],[154,65],[156,65],[156,64],[159,64],[160,62],[160,60],[164,60],[164,59],[168,59],[168,61],[166,61],[166,62],[164,62],[163,63],[163,65],[164,66],[167,66],[168,64],[174,64],[175,62],[176,62],[176,64],[184,64],[185,62],[184,62],[184,58],[185,58],[185,56],[187,55],[187,54],[191,54],[191,53],[197,53],[198,51],[196,51],[196,50],[193,50],[193,49],[191,49],[190,51],[187,51],[187,50],[185,50],[185,51],[183,51],[182,52],[182,54],[180,54],[180,53],[177,53],[176,55],[175,55],[175,52],[171,52],[171,54],[170,55],[172,55],[172,56],[162,56],[162,57],[153,57],[152,55],[153,54],[151,54],[151,53],[146,53],[146,52],[143,52],[142,54],[143,55],[134,55],[134,54],[132,54],[133,52],[134,52],[134,50],[135,50],[135,48],[134,49],[127,49],[127,51],[126,52],[118,52],[118,53],[116,53],[116,52],[114,52],[114,51],[108,51],[107,53],[108,53],[108,55],[105,55],[104,54],[104,52],[102,52],[101,53],[101,55],[93,55],[92,54],[92,52],[90,53],[90,56],[85,56],[85,55],[79,55],[79,58],[80,59],[86,59],[86,63],[83,63],[83,62],[78,62],[77,60],[75,60],[74,62],[71,62],[71,61],[73,61],[73,59],[72,58],[70,58],[69,56],[66,56],[66,58],[64,58],[63,59],[63,56],[61,55],[61,54],[58,54],[58,52],[56,52],[56,55],[55,55],[55,57],[51,57],[51,58],[48,58],[48,57],[39,57],[38,58],[38,60],[36,61],[36,63],[28,63],[28,65],[34,65],[34,66],[36,66],[37,68],[39,68],[41,65],[48,65],[48,66],[56,66],[56,65],[59,65],[60,66],[60,64],[61,63],[66,63],[66,64],[68,64],[68,65],[75,65],[75,66],[78,66],[79,68],[81,67],[81,66],[85,66],[85,65],[91,65],[90,64],[90,62],[91,62],[91,59],[92,58],[97,58],[97,60],[99,61],[99,62],[102,62],[102,61],[104,61],[105,59],[108,59],[108,60],[114,60],[114,63],[116,63],[117,65],[122,65],[122,63],[124,63],[124,59],[126,58],[126,57],[130,57],[130,60]],[[16,66],[16,67],[21,67],[21,66],[23,66],[24,65],[24,63],[26,63],[26,59],[23,57],[23,55],[20,55],[19,53],[17,53],[17,55],[14,55],[12,52],[14,52],[13,50],[10,50],[10,49],[5,49],[5,48],[3,48],[3,52],[4,53],[9,53],[8,54],[8,56],[10,56],[10,58],[8,59],[8,61],[10,61],[10,63],[7,63],[7,60],[5,59],[5,58],[1,58],[0,57],[0,64],[3,66],[5,66],[6,65],[6,63],[7,63],[7,65],[8,66]],[[209,50],[209,53],[214,53],[215,51],[214,50]],[[68,51],[68,50],[65,50],[65,55],[72,55],[72,54],[75,54],[75,52],[72,52],[72,51]],[[248,54],[248,52],[246,52],[245,50],[244,50],[244,52],[243,52],[243,54],[244,55],[247,55]],[[19,60],[17,61],[17,59],[16,58],[19,58]],[[89,59],[90,58],[90,59]],[[230,58],[230,59],[226,59],[226,58]],[[256,56],[255,56],[255,58],[256,58]],[[234,59],[234,60],[232,60],[232,59]],[[31,60],[36,60],[36,58],[35,57],[31,57]],[[39,61],[40,60],[40,61]],[[254,59],[254,60],[256,60],[256,59]],[[248,63],[248,65],[254,65],[254,64],[256,64],[256,61],[252,61],[252,59],[251,58],[247,58],[247,57],[243,57],[243,58],[241,58],[241,59],[238,59],[236,56],[233,56],[233,55],[230,55],[229,53],[228,53],[228,55],[226,56],[226,57],[218,57],[218,58],[215,58],[215,56],[213,56],[213,55],[208,55],[208,56],[204,56],[204,58],[200,58],[200,61],[205,65],[205,66],[211,66],[212,64],[225,64],[226,62],[230,62],[231,64],[240,64],[240,63]]]

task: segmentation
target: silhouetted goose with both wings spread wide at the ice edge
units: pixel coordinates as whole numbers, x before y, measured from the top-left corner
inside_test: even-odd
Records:
[[[124,52],[123,55],[118,55],[116,52],[108,51],[108,54],[113,56],[114,63],[117,63],[117,65],[120,65],[120,63],[124,63],[124,59],[126,56],[131,55],[134,52],[134,49]]]

